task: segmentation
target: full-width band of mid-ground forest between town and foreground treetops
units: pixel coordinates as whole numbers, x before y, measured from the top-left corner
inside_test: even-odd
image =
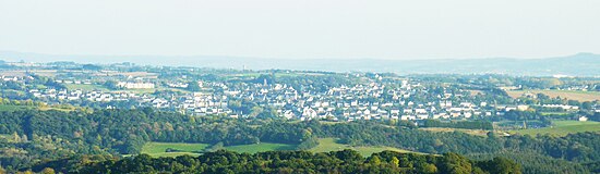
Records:
[[[590,132],[565,137],[505,137],[493,133],[473,136],[420,130],[406,122],[322,124],[319,121],[238,120],[190,116],[149,108],[69,112],[25,109],[0,112],[0,122],[3,123],[0,124],[3,135],[0,162],[8,171],[32,170],[82,154],[101,157],[118,167],[115,160],[139,154],[148,141],[226,146],[280,142],[298,145],[297,150],[303,150],[316,146],[316,138],[326,137],[350,146],[389,146],[430,154],[453,152],[478,160],[502,157],[518,161],[524,173],[588,173],[598,169],[600,160],[600,136]]]

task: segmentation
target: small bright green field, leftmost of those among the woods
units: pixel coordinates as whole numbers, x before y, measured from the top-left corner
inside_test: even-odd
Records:
[[[183,154],[197,156],[194,151],[202,151],[208,144],[184,144],[184,142],[147,142],[142,148],[142,153],[152,157],[177,157]],[[167,148],[176,149],[180,152],[166,152]]]

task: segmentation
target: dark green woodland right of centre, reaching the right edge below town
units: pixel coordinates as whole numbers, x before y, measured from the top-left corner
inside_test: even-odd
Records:
[[[513,135],[508,137],[489,134],[472,136],[460,132],[433,133],[388,127],[375,122],[347,124],[307,123],[320,137],[337,137],[356,146],[392,146],[428,153],[457,152],[461,154],[493,153],[499,151],[533,151],[539,154],[574,162],[600,160],[600,133],[577,133],[564,137],[549,135]]]

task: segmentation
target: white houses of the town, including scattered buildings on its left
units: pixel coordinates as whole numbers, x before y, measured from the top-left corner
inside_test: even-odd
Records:
[[[2,76],[2,80],[22,80]],[[62,84],[92,85],[89,80],[57,80]],[[156,82],[119,82],[124,89],[153,89]],[[382,82],[381,77],[368,83],[341,85],[325,90],[311,86],[298,90],[288,84],[263,84],[238,82],[236,84],[200,82],[204,92],[172,92],[157,95],[135,92],[135,90],[82,90],[82,89],[31,89],[27,92],[50,101],[85,100],[104,102],[124,101],[134,107],[154,107],[180,111],[194,115],[227,115],[231,117],[252,116],[251,112],[232,108],[230,101],[256,103],[275,111],[276,115],[290,120],[427,120],[427,119],[471,119],[502,115],[512,110],[526,111],[532,105],[503,105],[490,101],[473,100],[469,91],[433,90],[419,82],[398,79]],[[185,88],[188,83],[168,82],[170,88]],[[239,104],[239,103],[238,103]],[[237,108],[243,105],[236,105]],[[576,105],[542,104],[551,109],[578,110]]]

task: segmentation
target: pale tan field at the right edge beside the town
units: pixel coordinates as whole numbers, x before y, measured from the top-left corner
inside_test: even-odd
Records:
[[[579,100],[579,101],[593,101],[593,100],[600,100],[600,92],[597,91],[578,91],[578,90],[507,90],[506,94],[513,98],[518,98],[523,94],[531,92],[533,95],[536,94],[544,94],[551,98],[561,97],[561,98],[567,98],[571,100]]]

